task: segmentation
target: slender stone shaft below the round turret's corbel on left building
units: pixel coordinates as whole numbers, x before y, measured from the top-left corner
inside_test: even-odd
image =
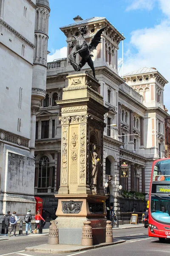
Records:
[[[31,138],[30,138],[30,152],[34,156],[35,151],[35,131],[36,131],[36,114],[38,107],[31,107]]]

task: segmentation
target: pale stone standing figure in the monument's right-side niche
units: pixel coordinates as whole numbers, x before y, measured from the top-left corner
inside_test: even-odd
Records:
[[[90,174],[90,186],[97,186],[97,174],[98,174],[98,162],[99,158],[97,157],[97,153],[95,152],[96,145],[91,145],[90,151],[90,165],[89,165],[89,174]]]

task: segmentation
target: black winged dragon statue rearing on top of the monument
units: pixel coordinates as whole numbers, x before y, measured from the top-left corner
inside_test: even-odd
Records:
[[[71,53],[68,55],[68,58],[70,60],[71,65],[73,66],[75,71],[80,71],[81,68],[88,63],[89,67],[91,67],[93,71],[93,76],[95,77],[95,70],[94,70],[94,64],[92,61],[93,55],[91,52],[93,52],[94,49],[96,49],[97,45],[100,42],[102,32],[105,30],[106,27],[103,27],[102,29],[99,29],[94,37],[91,38],[91,41],[87,43],[84,38],[84,32],[85,32],[85,26],[80,28],[80,35],[79,37],[75,37],[72,35],[72,37],[75,38],[76,42],[72,42],[70,47],[72,48]],[[79,64],[76,62],[76,55],[77,53],[82,58],[79,61]]]

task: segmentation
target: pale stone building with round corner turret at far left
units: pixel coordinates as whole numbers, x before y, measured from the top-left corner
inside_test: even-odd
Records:
[[[35,14],[40,9],[46,15],[45,28],[40,28],[45,38],[44,43],[35,44]],[[16,211],[21,220],[28,208],[35,211],[35,160],[34,151],[30,152],[35,122],[31,110],[46,94],[49,11],[48,0],[0,0],[0,223],[7,211]],[[41,81],[38,65],[33,63],[40,48],[44,56],[39,66],[39,73],[44,74]],[[38,55],[37,62],[39,59]]]

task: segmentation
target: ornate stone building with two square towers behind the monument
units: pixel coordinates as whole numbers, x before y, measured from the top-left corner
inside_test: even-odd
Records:
[[[123,190],[148,193],[153,160],[164,155],[164,118],[167,112],[163,108],[162,93],[167,80],[157,70],[147,68],[143,73],[141,70],[134,72],[136,83],[132,84],[132,75],[127,74],[124,79],[118,75],[119,43],[125,38],[105,17],[83,20],[77,16],[74,23],[60,28],[67,38],[68,54],[71,51],[69,44],[74,41],[72,35],[78,37],[79,26],[85,25],[84,36],[88,42],[97,30],[107,26],[101,44],[93,52],[93,60],[100,83],[99,93],[104,97],[104,105],[109,108],[105,114],[103,140],[104,184],[108,183],[109,205],[113,204],[119,213],[123,210],[119,185]],[[47,94],[36,119],[35,195],[43,198],[45,204],[57,203],[54,194],[57,194],[60,184],[61,125],[60,108],[56,101],[62,99],[62,89],[68,86],[66,77],[74,73],[68,54],[67,58],[48,63]],[[82,70],[91,74],[87,64]],[[147,77],[148,80],[145,79]],[[146,94],[142,94],[141,84]],[[128,178],[120,177],[120,167],[124,162],[129,167]]]

